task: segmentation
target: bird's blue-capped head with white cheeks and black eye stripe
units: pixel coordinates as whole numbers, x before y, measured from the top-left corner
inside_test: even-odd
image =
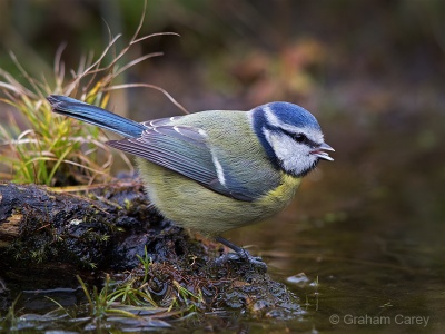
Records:
[[[253,128],[269,159],[285,173],[303,177],[320,159],[333,161],[317,119],[289,102],[270,102],[251,111]]]

